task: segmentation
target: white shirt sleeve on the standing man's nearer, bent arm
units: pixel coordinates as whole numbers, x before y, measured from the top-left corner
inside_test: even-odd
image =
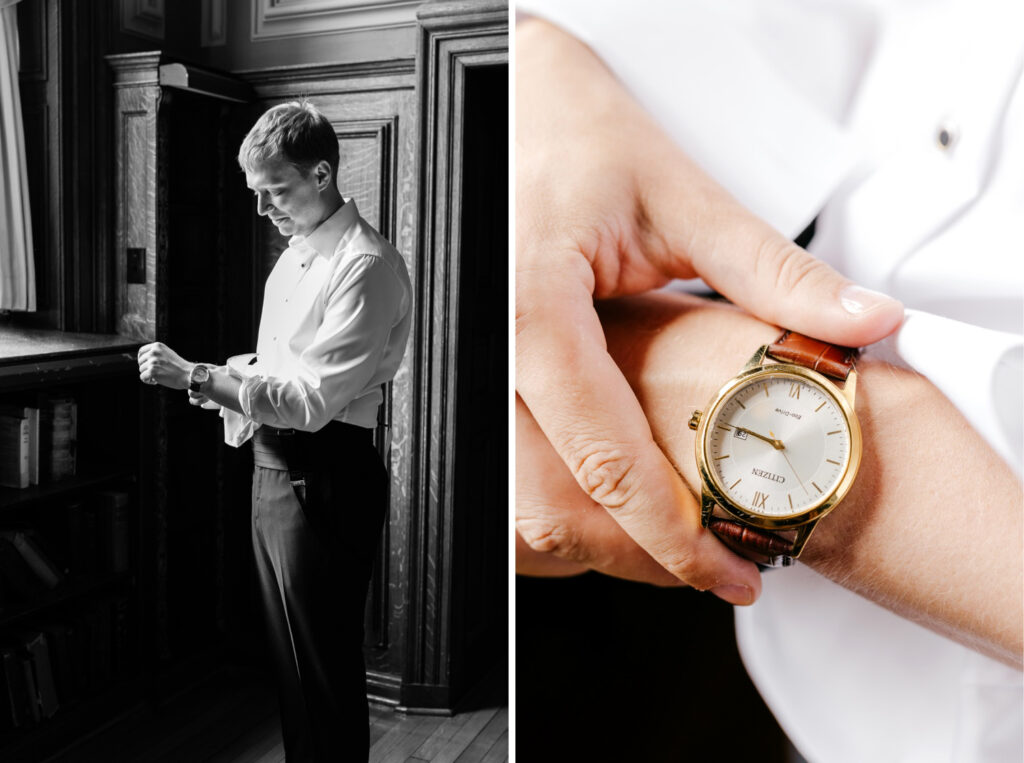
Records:
[[[289,376],[243,381],[239,402],[258,424],[316,431],[349,405],[376,372],[403,290],[381,256],[352,258],[327,290],[323,321]]]

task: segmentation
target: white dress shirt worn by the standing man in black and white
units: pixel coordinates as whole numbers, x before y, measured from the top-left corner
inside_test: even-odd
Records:
[[[406,261],[348,200],[312,234],[294,236],[266,280],[256,356],[240,373],[243,414],[221,409],[241,446],[267,424],[317,431],[372,428],[412,326]]]

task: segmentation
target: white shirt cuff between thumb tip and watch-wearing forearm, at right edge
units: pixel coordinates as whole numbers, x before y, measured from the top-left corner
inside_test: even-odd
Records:
[[[907,310],[899,331],[865,354],[927,377],[1021,476],[1024,337]]]

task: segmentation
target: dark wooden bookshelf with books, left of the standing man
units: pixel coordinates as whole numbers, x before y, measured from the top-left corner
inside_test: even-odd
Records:
[[[138,346],[0,326],[0,407],[75,409],[73,473],[0,486],[4,761],[44,759],[147,696],[155,393],[138,382]]]

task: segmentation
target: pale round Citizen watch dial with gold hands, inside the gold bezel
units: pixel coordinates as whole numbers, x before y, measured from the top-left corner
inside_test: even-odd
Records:
[[[799,514],[825,501],[850,464],[850,425],[821,386],[758,375],[711,412],[705,455],[719,490],[753,514]]]

